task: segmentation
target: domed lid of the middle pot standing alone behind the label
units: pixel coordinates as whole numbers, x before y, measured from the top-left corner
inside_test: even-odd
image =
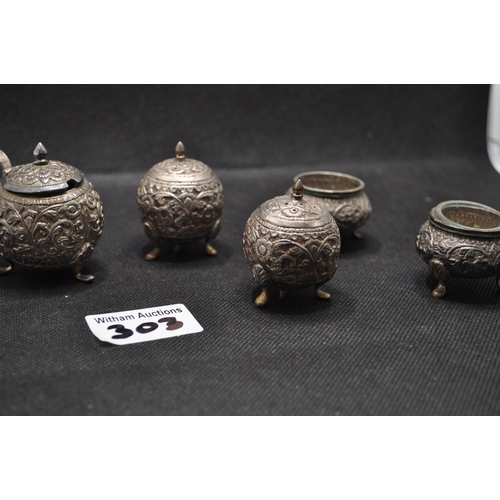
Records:
[[[184,144],[179,141],[175,147],[175,158],[157,163],[149,170],[148,175],[167,182],[191,182],[210,179],[214,172],[203,162],[186,158]]]

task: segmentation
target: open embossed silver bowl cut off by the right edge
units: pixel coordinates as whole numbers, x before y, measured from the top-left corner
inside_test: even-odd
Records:
[[[417,252],[438,279],[443,297],[450,276],[496,276],[500,288],[500,212],[481,203],[444,201],[434,207],[417,234]]]

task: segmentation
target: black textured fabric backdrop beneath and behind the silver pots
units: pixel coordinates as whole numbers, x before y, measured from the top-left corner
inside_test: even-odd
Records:
[[[493,415],[500,412],[494,279],[434,280],[415,251],[447,199],[500,209],[486,156],[488,86],[1,86],[0,148],[13,164],[79,167],[104,203],[85,270],[0,277],[3,415]],[[219,256],[195,244],[155,262],[139,180],[174,154],[225,190]],[[302,290],[264,309],[241,248],[250,213],[306,170],[362,178],[373,205],[345,239],[329,302]],[[184,303],[198,334],[111,346],[88,314]]]

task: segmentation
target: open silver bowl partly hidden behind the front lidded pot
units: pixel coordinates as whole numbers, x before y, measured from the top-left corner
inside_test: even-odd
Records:
[[[357,231],[370,217],[372,206],[366,195],[365,183],[352,175],[339,172],[303,172],[294,177],[304,185],[304,198],[311,202],[321,201],[332,214],[340,233],[352,233],[355,238],[361,235]],[[287,194],[291,193],[290,188]]]

